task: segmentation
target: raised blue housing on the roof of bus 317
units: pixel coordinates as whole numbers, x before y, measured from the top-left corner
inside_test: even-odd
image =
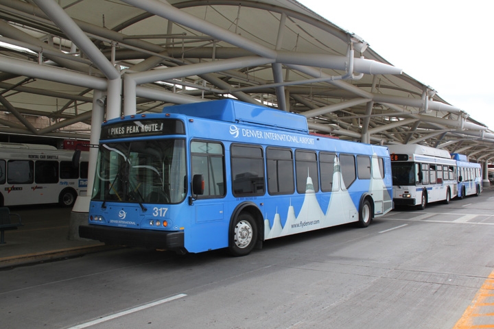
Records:
[[[261,104],[249,104],[234,99],[166,106],[163,108],[163,113],[185,114],[189,117],[309,133],[307,119],[303,115],[274,110]]]

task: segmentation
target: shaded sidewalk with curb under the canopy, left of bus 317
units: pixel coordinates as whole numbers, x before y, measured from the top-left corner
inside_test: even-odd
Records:
[[[80,256],[113,247],[99,241],[69,240],[71,208],[58,205],[9,207],[19,214],[23,226],[5,231],[5,244],[0,245],[0,269]]]

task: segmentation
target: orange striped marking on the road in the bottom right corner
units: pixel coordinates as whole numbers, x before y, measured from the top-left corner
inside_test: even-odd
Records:
[[[494,297],[494,271],[484,281],[482,287],[473,297],[469,307],[464,311],[462,317],[456,322],[453,329],[467,328],[494,328],[492,301]],[[486,307],[487,306],[487,307]]]

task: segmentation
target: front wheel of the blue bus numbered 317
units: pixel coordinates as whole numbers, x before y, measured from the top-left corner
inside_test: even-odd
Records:
[[[257,241],[257,224],[248,212],[241,212],[234,219],[228,238],[228,250],[232,256],[246,256]]]

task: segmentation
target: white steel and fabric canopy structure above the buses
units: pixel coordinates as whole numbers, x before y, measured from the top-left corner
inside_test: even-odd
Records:
[[[104,119],[234,97],[319,134],[494,159],[468,109],[294,0],[0,0],[0,18],[0,133],[97,143]]]

